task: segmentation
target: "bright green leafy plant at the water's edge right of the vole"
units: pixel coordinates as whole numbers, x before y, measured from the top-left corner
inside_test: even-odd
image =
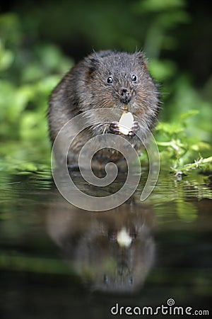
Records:
[[[160,151],[162,167],[170,167],[172,172],[184,172],[189,169],[202,168],[212,171],[212,157],[204,159],[200,153],[208,155],[211,146],[202,142],[198,136],[189,136],[187,123],[189,118],[198,115],[198,111],[190,110],[182,113],[172,123],[159,123],[156,128],[156,139]],[[200,158],[199,158],[200,157]],[[196,161],[194,162],[194,159]],[[189,164],[194,162],[194,164]],[[208,164],[211,163],[211,167]]]

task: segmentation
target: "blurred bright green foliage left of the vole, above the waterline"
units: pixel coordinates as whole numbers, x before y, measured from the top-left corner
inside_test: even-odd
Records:
[[[13,14],[0,17],[0,30],[0,136],[47,140],[48,96],[71,61],[54,45],[25,45]]]

